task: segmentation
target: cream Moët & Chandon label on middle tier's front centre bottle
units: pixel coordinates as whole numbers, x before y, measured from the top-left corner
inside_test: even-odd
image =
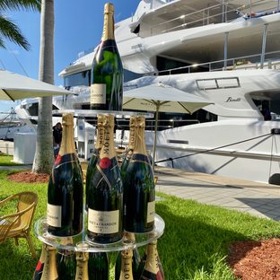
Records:
[[[94,233],[116,233],[118,232],[119,211],[96,211],[89,208],[88,229]]]

